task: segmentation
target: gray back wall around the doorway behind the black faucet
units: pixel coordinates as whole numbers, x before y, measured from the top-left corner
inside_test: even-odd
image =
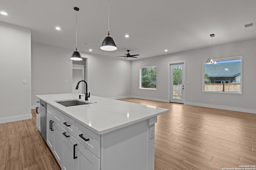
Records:
[[[35,95],[72,92],[70,56],[73,52],[74,50],[32,42],[32,106],[35,105]],[[130,96],[130,61],[81,51],[80,54],[87,58],[86,79],[91,95],[106,98]]]

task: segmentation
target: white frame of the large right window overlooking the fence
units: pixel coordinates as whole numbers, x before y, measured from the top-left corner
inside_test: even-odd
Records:
[[[242,94],[242,61],[243,57],[242,56],[237,56],[237,57],[226,57],[226,58],[219,58],[219,59],[214,59],[214,61],[227,61],[227,60],[241,60],[241,78],[240,78],[240,92],[227,92],[227,91],[206,91],[204,90],[204,79],[205,79],[205,63],[208,63],[207,60],[203,60],[203,75],[202,75],[202,92],[206,93],[222,93],[222,94]]]

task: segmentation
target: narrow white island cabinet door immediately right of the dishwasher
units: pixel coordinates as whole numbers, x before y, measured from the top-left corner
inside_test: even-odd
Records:
[[[48,114],[46,114],[46,143],[48,147],[53,150],[53,139],[54,139],[54,120]]]

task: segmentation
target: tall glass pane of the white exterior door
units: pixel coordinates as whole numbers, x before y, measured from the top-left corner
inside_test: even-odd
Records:
[[[182,100],[182,65],[173,66],[172,99]]]

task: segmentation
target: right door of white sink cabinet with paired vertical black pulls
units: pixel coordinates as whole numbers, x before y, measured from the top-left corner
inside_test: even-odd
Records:
[[[54,139],[53,139],[53,154],[58,161],[60,167],[62,167],[63,161],[63,132],[65,131],[55,120],[53,123]]]

